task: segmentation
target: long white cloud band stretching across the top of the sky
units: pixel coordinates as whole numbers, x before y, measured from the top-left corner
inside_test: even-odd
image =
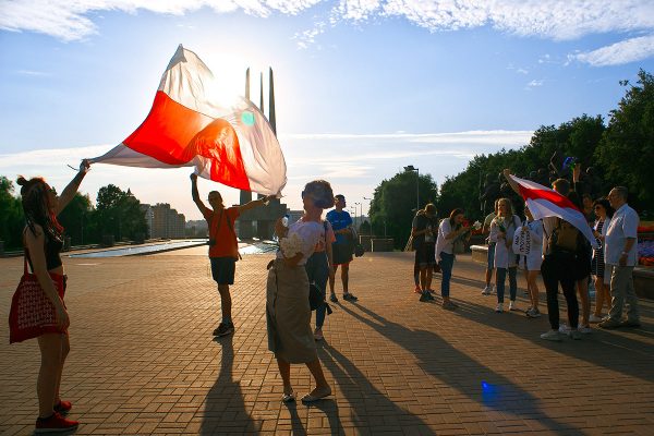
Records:
[[[0,28],[75,40],[98,32],[90,13],[100,11],[183,15],[209,8],[216,13],[242,10],[266,17],[295,15],[318,3],[335,3],[328,17],[317,20],[331,25],[398,16],[429,32],[493,26],[556,40],[654,28],[654,2],[649,0],[0,0]]]

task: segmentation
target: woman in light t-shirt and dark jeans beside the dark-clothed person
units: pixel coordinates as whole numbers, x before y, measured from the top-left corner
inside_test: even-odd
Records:
[[[453,311],[458,307],[450,300],[449,289],[455,266],[455,241],[458,238],[470,239],[470,227],[464,226],[465,217],[463,209],[457,208],[450,213],[438,226],[438,239],[436,240],[436,259],[440,265],[443,279],[440,281],[440,296],[443,296],[443,308]]]

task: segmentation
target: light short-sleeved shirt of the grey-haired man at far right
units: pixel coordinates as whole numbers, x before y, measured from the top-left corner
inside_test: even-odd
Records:
[[[614,214],[604,240],[604,262],[606,265],[619,265],[627,238],[638,238],[639,217],[628,204],[620,206]],[[606,223],[604,223],[606,226]],[[604,229],[603,229],[604,230]],[[604,232],[604,231],[603,231]],[[627,266],[635,266],[638,262],[638,239],[627,255]]]

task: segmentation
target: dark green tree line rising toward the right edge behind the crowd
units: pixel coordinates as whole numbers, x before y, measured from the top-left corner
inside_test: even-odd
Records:
[[[502,169],[548,185],[552,178],[567,177],[570,164],[581,165],[585,189],[593,197],[606,196],[611,186],[629,190],[629,204],[644,219],[654,214],[654,76],[644,70],[635,84],[621,81],[625,95],[608,114],[582,114],[560,125],[542,125],[529,144],[516,150],[501,149],[495,154],[477,155],[465,170],[447,177],[440,189],[429,174],[420,175],[420,205],[434,203],[439,218],[460,207],[471,220],[482,220],[489,211],[484,205],[484,191],[498,185],[500,196],[512,191],[502,186]],[[567,165],[567,166],[566,166]],[[403,247],[415,215],[416,191],[414,172],[400,172],[384,180],[375,189],[370,219],[376,235],[395,239]],[[520,201],[514,202],[521,205]],[[491,202],[492,205],[492,202]],[[486,207],[484,207],[486,206]]]

